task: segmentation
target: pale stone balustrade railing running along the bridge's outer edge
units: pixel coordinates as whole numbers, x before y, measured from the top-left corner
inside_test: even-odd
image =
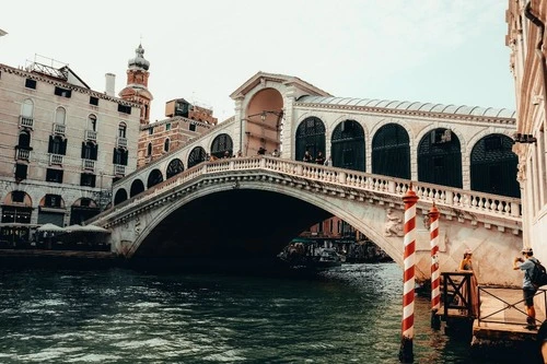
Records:
[[[514,220],[515,223],[521,221],[521,201],[517,198],[489,195],[421,181],[410,181],[389,176],[373,175],[364,172],[328,167],[264,155],[221,158],[200,163],[115,206],[110,210],[106,210],[91,221],[96,221],[108,213],[129,209],[131,206],[144,202],[162,192],[168,192],[173,186],[184,185],[202,175],[224,174],[226,172],[236,171],[245,172],[249,169],[264,169],[288,176],[303,177],[311,184],[326,183],[336,185],[340,188],[347,188],[349,195],[356,196],[359,191],[366,191],[403,197],[410,188],[410,184],[412,184],[412,189],[421,201],[435,202],[439,207],[444,206],[455,210],[465,210],[470,213],[487,213],[490,215],[503,216],[504,219]],[[463,216],[461,219],[463,219]]]

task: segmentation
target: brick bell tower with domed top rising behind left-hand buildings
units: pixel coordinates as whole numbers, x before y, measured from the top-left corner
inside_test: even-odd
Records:
[[[148,90],[150,62],[144,59],[144,48],[139,44],[135,58],[127,62],[127,85],[119,92],[119,97],[142,105],[140,125],[150,124],[150,104],[154,98]]]

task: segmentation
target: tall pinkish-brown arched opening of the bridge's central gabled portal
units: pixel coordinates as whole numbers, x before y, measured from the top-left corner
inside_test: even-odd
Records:
[[[245,155],[272,152],[280,149],[283,119],[283,96],[279,91],[265,87],[251,99],[245,114]],[[243,136],[240,136],[242,142]]]

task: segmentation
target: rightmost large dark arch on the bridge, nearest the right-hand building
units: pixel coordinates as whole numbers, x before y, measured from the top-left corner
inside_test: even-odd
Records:
[[[516,180],[519,157],[512,151],[513,140],[503,134],[481,138],[472,151],[472,189],[487,193],[521,197]]]

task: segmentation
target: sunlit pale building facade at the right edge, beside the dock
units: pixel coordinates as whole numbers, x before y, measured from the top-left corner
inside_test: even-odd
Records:
[[[547,261],[547,1],[510,0],[507,46],[516,95],[517,180],[522,191],[523,244]]]

